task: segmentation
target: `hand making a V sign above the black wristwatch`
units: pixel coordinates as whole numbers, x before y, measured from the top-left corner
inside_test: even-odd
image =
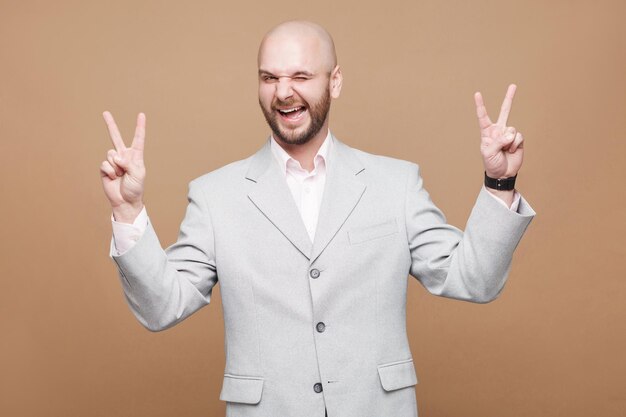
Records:
[[[506,125],[516,88],[515,84],[509,85],[496,123],[489,119],[480,92],[474,94],[480,126],[480,153],[485,171],[491,178],[513,177],[522,166],[524,138],[514,127]]]

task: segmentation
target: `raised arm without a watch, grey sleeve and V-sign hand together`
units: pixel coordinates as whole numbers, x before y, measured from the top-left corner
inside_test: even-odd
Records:
[[[143,113],[137,116],[130,147],[124,144],[109,112],[104,112],[104,120],[114,146],[100,166],[104,193],[115,220],[132,224],[143,209],[146,117]],[[201,187],[193,182],[188,199],[176,243],[164,250],[146,216],[141,233],[129,245],[132,247],[121,253],[112,251],[128,305],[152,331],[167,329],[207,305],[217,284],[208,207]]]

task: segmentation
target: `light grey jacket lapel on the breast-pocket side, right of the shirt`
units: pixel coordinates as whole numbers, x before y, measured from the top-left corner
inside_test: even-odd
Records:
[[[361,196],[365,184],[356,176],[364,170],[363,164],[354,155],[354,150],[334,138],[328,158],[326,184],[320,207],[311,263],[324,251],[348,219]]]

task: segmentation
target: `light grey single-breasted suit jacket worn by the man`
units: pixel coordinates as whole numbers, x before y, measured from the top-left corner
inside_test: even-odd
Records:
[[[114,257],[130,308],[163,330],[207,305],[219,280],[227,416],[416,416],[408,275],[436,295],[491,301],[535,212],[481,190],[463,233],[417,165],[335,139],[311,242],[269,143],[190,183],[172,246],[148,224]]]

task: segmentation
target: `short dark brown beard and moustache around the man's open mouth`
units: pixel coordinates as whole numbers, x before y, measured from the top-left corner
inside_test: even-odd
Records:
[[[272,129],[272,133],[274,134],[274,139],[280,140],[284,143],[288,143],[290,145],[304,145],[311,139],[315,137],[324,126],[324,122],[328,117],[328,112],[330,111],[330,90],[327,88],[324,92],[322,98],[315,103],[313,106],[307,105],[307,111],[311,117],[311,123],[309,127],[302,132],[300,135],[295,135],[294,133],[282,132],[280,130],[280,126],[278,125],[277,118],[280,117],[274,111],[274,109],[270,109],[269,112],[263,107],[261,101],[259,100],[259,105],[261,106],[261,110],[263,111],[263,116],[265,116],[265,120],[267,124]],[[283,102],[276,103],[275,106],[287,107],[291,105],[291,102]],[[274,104],[273,104],[274,106]]]

